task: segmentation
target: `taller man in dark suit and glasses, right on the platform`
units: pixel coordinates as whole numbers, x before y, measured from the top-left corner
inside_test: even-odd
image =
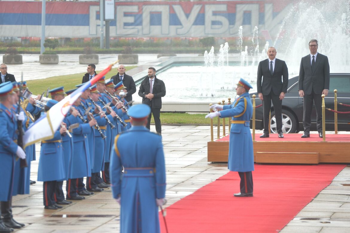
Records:
[[[328,57],[317,53],[318,42],[311,39],[309,42],[310,54],[301,58],[299,71],[299,95],[304,97],[302,138],[310,137],[311,111],[315,102],[316,126],[318,137],[322,138],[322,95],[328,95],[329,63]]]

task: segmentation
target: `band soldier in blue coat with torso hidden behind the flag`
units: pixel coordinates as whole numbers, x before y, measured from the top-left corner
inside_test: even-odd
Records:
[[[58,103],[49,100],[45,105],[45,111]],[[57,210],[62,206],[55,202],[56,181],[65,179],[64,156],[62,146],[62,134],[66,128],[61,126],[50,140],[41,142],[40,160],[38,168],[38,181],[43,181],[43,201],[45,209]]]

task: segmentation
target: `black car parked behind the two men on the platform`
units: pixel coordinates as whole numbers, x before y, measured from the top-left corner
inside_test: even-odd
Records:
[[[304,131],[303,128],[303,97],[299,96],[298,78],[293,77],[288,80],[288,90],[282,101],[282,131],[283,133],[298,133]],[[331,73],[329,92],[324,98],[326,108],[334,109],[334,89],[337,89],[338,103],[350,105],[350,73]],[[255,94],[255,104],[262,103],[258,93]],[[349,107],[337,105],[338,111],[348,112]],[[325,110],[325,125],[328,131],[334,131],[334,112]],[[250,126],[252,127],[252,120]],[[264,129],[262,106],[255,109],[255,129]],[[316,109],[313,106],[311,113],[311,131],[316,131]],[[350,114],[338,114],[338,131],[350,131]],[[276,133],[276,120],[273,106],[271,107],[271,132]]]

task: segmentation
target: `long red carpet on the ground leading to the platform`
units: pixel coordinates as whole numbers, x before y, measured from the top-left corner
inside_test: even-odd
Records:
[[[281,230],[345,165],[255,165],[254,197],[239,192],[229,172],[167,208],[170,233],[271,232]],[[160,214],[161,232],[165,226]]]

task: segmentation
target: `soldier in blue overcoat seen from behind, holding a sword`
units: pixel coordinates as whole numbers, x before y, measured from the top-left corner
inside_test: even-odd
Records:
[[[132,106],[128,111],[132,128],[114,139],[111,186],[113,198],[121,205],[123,233],[160,232],[158,206],[165,197],[165,160],[162,137],[146,128],[150,113],[146,104]]]

